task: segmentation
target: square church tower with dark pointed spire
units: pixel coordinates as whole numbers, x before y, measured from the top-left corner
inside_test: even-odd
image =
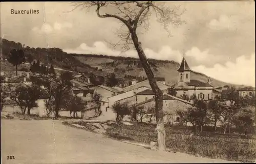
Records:
[[[190,68],[183,57],[180,68],[178,69],[179,76],[178,76],[178,86],[184,86],[184,83],[190,83]]]

